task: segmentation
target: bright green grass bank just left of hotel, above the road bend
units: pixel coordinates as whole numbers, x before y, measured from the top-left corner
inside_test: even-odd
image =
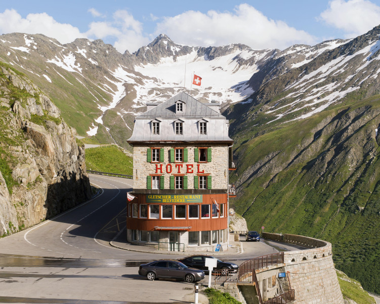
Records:
[[[132,175],[133,162],[120,148],[110,145],[86,149],[86,167],[88,170]]]

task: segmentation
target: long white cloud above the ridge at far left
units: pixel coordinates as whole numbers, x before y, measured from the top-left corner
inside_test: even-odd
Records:
[[[59,23],[46,13],[28,14],[22,18],[16,10],[5,10],[0,13],[0,32],[21,32],[28,34],[44,34],[57,39],[60,43],[70,43],[76,38],[86,37],[75,26]]]

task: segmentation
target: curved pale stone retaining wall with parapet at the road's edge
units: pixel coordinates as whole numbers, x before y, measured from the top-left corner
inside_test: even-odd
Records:
[[[263,233],[263,238],[309,248],[284,252],[284,268],[296,303],[344,304],[332,261],[331,243],[287,234]]]

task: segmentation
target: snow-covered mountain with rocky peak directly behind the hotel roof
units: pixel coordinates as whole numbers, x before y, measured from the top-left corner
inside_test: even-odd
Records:
[[[291,69],[343,42],[293,46],[281,52],[241,44],[189,47],[161,34],[134,54],[120,54],[101,40],[61,45],[41,34],[12,33],[0,37],[0,61],[43,89],[79,135],[128,147],[126,139],[135,116],[145,111],[145,102],[164,101],[184,87],[190,90],[193,71],[202,77],[202,86],[193,86],[191,94],[201,101],[217,99],[227,107],[257,90],[260,84],[252,85],[252,75],[263,82],[266,76],[261,71],[272,71],[273,64],[276,77],[274,71]]]

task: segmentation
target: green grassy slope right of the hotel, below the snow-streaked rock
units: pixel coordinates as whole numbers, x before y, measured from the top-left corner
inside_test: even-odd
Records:
[[[349,96],[309,119],[261,130],[255,123],[234,134],[230,177],[248,229],[327,240],[336,267],[379,293],[379,96]]]

